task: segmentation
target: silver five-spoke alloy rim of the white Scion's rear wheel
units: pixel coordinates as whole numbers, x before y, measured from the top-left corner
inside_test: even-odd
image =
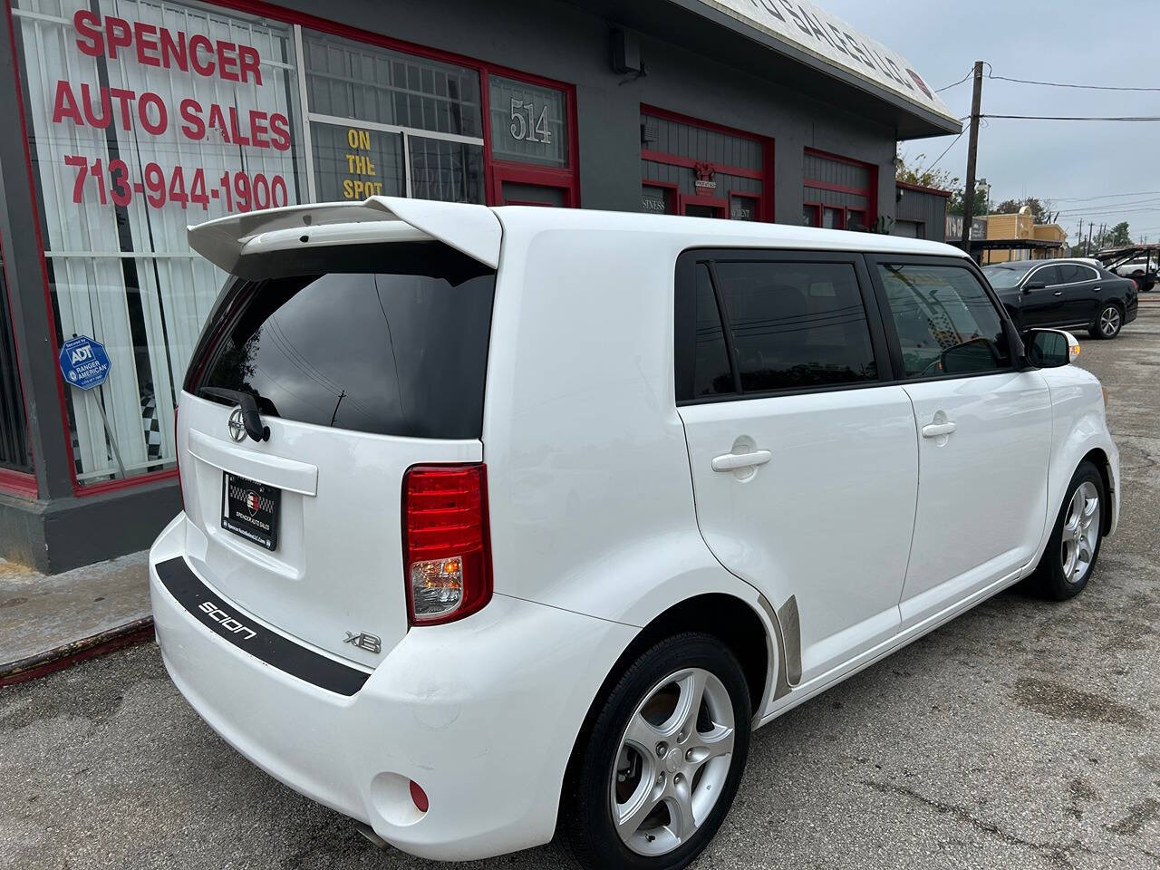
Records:
[[[611,771],[612,825],[629,849],[664,855],[697,832],[724,790],[735,728],[728,691],[703,668],[645,694]]]

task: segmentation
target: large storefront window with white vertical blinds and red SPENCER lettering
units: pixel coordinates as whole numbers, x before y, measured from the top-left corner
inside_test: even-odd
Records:
[[[66,386],[77,480],[172,467],[177,385],[224,278],[186,226],[303,198],[291,29],[155,0],[15,6],[57,341],[88,335],[111,363]]]

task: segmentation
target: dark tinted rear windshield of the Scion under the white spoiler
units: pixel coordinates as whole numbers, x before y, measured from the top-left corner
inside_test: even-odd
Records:
[[[495,271],[437,241],[242,258],[186,378],[262,414],[379,435],[478,438]]]

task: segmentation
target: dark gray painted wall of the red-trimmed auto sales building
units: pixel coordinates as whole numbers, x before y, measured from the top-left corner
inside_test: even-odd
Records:
[[[284,3],[306,14],[307,0]],[[676,45],[641,36],[647,75],[610,67],[616,22],[563,2],[513,0],[332,0],[327,17],[407,42],[567,81],[577,87],[581,205],[640,209],[640,106],[679,111],[775,139],[774,206],[782,223],[802,220],[803,150],[814,147],[879,166],[879,215],[893,215],[896,130],[886,123],[791,92]],[[0,554],[60,571],[142,548],[179,509],[174,481],[100,496],[73,495],[66,428],[49,340],[51,320],[16,109],[8,16],[0,16],[0,235],[22,361],[22,385],[41,501],[0,498]],[[708,27],[708,24],[706,24]],[[768,197],[769,191],[766,191]]]

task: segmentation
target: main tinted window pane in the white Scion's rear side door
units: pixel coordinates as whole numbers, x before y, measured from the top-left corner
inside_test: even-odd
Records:
[[[715,268],[742,392],[877,379],[853,264],[719,260]]]

